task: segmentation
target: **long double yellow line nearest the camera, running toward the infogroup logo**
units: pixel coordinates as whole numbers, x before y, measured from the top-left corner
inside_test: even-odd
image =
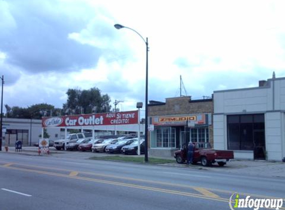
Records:
[[[3,167],[3,166],[0,166],[0,167]],[[174,191],[174,190],[167,190],[167,189],[162,189],[162,188],[152,188],[152,187],[146,187],[146,186],[141,186],[141,185],[126,184],[126,183],[105,181],[105,180],[98,180],[98,179],[79,177],[79,176],[72,176],[71,177],[69,175],[64,175],[64,174],[57,174],[57,173],[45,172],[45,171],[37,171],[37,170],[32,170],[32,169],[22,169],[22,168],[16,168],[16,167],[9,167],[9,169],[26,171],[26,172],[34,172],[34,173],[38,173],[38,174],[52,175],[52,176],[58,176],[58,177],[65,177],[65,178],[70,178],[70,179],[79,179],[79,180],[85,180],[85,181],[92,181],[92,182],[98,182],[98,183],[104,183],[104,184],[110,184],[110,185],[124,186],[124,187],[130,187],[130,188],[137,188],[137,189],[142,189],[142,190],[149,190],[149,191],[162,192],[162,193],[168,193],[168,194],[175,194],[175,195],[181,195],[181,196],[188,196],[188,197],[194,197],[194,198],[200,198],[200,199],[206,199],[206,200],[220,201],[220,202],[225,202],[225,203],[229,202],[228,199],[212,198],[212,197],[207,197],[207,196],[203,196],[203,195],[199,195],[199,194],[180,192],[180,191]]]

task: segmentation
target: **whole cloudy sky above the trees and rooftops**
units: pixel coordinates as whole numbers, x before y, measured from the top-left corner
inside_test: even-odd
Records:
[[[283,0],[0,0],[3,104],[62,107],[96,87],[123,111],[285,77]],[[117,30],[119,23],[128,28]],[[5,112],[5,109],[3,110]]]

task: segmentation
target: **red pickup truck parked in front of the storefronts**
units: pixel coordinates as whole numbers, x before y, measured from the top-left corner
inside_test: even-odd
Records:
[[[210,166],[212,163],[218,163],[224,166],[227,161],[234,159],[234,153],[230,150],[214,150],[210,143],[196,142],[194,144],[193,164],[201,162],[203,166]],[[181,150],[175,151],[174,158],[178,163],[184,163],[187,160],[187,144],[183,144]]]

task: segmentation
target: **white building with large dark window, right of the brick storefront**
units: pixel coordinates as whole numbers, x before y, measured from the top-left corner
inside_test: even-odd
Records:
[[[214,92],[214,148],[237,159],[285,157],[285,78],[259,87]]]

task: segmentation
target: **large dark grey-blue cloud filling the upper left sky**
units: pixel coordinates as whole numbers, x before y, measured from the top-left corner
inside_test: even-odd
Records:
[[[78,9],[69,5],[68,10],[64,7],[66,4],[58,0],[0,2],[5,5],[1,8],[5,23],[0,24],[0,30],[6,31],[0,35],[4,40],[0,42],[0,51],[7,55],[7,65],[31,73],[70,72],[96,65],[102,54],[99,45],[83,45],[69,39],[70,33],[84,28],[92,18],[92,9],[88,9],[86,3],[70,2]],[[88,15],[81,17],[74,12]],[[98,15],[100,23],[102,16],[94,15]]]

